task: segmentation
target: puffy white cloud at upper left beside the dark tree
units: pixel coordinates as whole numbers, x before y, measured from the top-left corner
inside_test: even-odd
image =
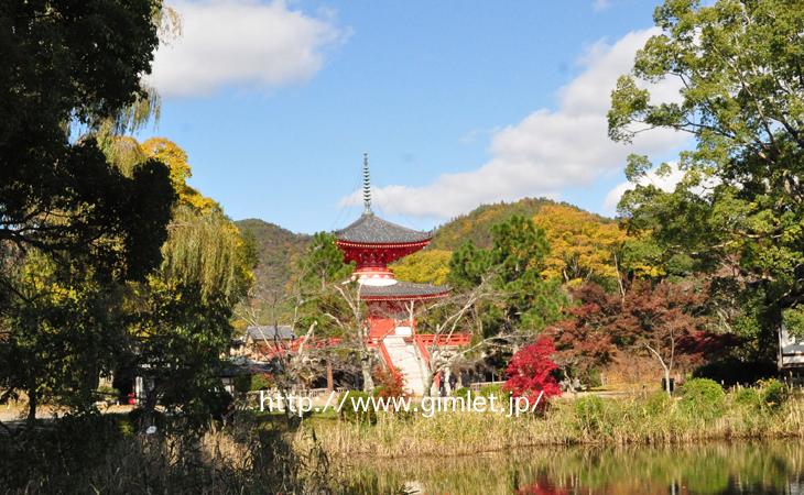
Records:
[[[349,34],[332,14],[311,16],[281,0],[178,0],[170,6],[181,15],[182,35],[160,45],[146,78],[163,96],[302,82],[322,68],[326,48]]]

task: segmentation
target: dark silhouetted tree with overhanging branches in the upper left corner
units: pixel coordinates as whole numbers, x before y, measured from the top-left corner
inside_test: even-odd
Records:
[[[140,277],[159,264],[171,204],[163,167],[145,162],[126,176],[69,130],[144,98],[160,9],[148,0],[0,7],[0,53],[14,67],[0,74],[0,242],[91,252],[88,262]]]

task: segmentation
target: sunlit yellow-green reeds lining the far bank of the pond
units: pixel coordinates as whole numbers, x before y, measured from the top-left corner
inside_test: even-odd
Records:
[[[756,395],[756,397],[754,397]],[[676,444],[706,440],[804,437],[804,397],[768,406],[761,395],[726,394],[710,413],[663,393],[630,398],[557,400],[540,417],[495,413],[380,413],[373,425],[311,418],[292,443],[332,458],[464,455],[532,446]],[[713,411],[714,410],[714,411]]]

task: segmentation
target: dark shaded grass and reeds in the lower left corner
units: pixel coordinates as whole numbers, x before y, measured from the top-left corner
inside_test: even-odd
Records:
[[[332,472],[318,450],[254,424],[137,432],[124,415],[66,417],[0,437],[0,493],[320,493]]]

